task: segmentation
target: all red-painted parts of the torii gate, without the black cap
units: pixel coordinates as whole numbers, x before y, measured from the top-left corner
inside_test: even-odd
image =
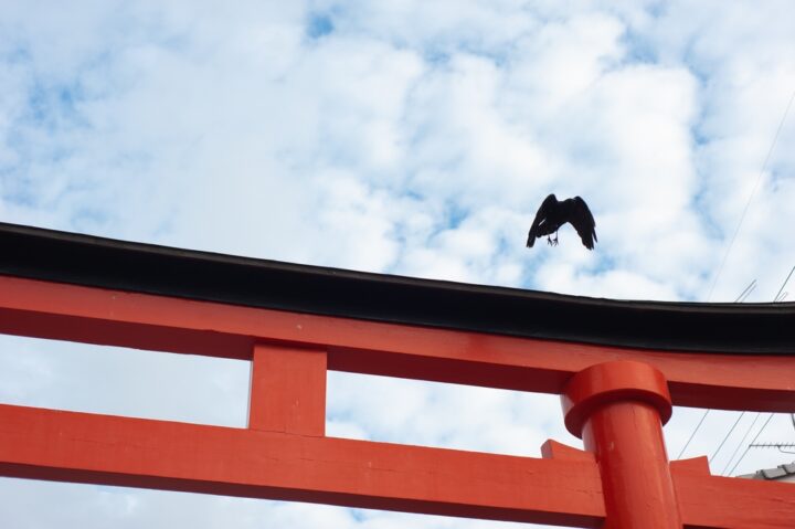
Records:
[[[671,400],[795,411],[792,357],[593,347],[6,276],[0,332],[253,361],[247,429],[0,404],[4,476],[608,529],[795,520],[791,484],[710,476],[703,458],[669,465],[661,434]],[[589,452],[550,441],[539,459],[325,437],[327,369],[564,393],[566,426]]]

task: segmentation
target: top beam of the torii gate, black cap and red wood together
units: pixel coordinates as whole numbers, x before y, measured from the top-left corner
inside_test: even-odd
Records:
[[[149,328],[144,335],[117,332],[114,340],[119,346],[251,358],[255,339],[275,339],[327,346],[329,369],[335,370],[549,393],[561,393],[569,378],[600,361],[635,359],[664,372],[677,405],[795,411],[793,303],[594,299],[296,265],[3,223],[0,248],[0,275],[8,276],[6,293],[25,292],[13,298],[20,309],[26,309],[17,319],[42,306],[52,310],[55,306],[49,290],[40,288],[36,298],[39,290],[32,283],[12,277],[119,290],[124,294],[116,300],[116,321],[105,317],[105,301],[97,290],[81,290],[85,317],[100,319],[104,326]],[[125,304],[139,306],[153,299],[146,295],[159,297],[160,313],[123,316]],[[206,315],[211,309],[218,313],[212,318],[199,325],[195,318],[191,321],[191,310]],[[269,315],[265,320],[256,316],[265,314],[262,310]],[[72,314],[70,309],[62,314],[64,325],[50,328],[53,338],[96,342],[91,336],[78,336],[81,329],[63,319]],[[329,320],[321,317],[333,318],[338,327],[326,328],[324,322]],[[301,320],[296,324],[300,330],[290,319]],[[0,331],[17,334],[15,325],[22,324],[10,317],[0,319]],[[395,334],[409,327],[413,330],[406,336]],[[193,339],[181,341],[171,335]],[[136,343],[145,338],[146,343]],[[219,340],[223,347],[218,347]],[[358,355],[361,350],[370,352]]]

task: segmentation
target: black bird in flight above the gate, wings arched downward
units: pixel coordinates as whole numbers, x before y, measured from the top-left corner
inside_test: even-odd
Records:
[[[583,199],[574,197],[559,201],[554,194],[550,194],[541,203],[536,220],[530,226],[528,233],[527,247],[531,248],[536,243],[536,239],[547,235],[547,243],[558,245],[558,230],[560,226],[570,222],[574,226],[580,239],[586,248],[593,250],[596,239],[596,221],[593,220],[591,210]],[[551,239],[550,234],[554,233],[555,237]]]

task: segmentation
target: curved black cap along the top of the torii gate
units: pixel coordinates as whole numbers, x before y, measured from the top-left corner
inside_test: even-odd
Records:
[[[795,304],[624,301],[416,279],[0,223],[0,274],[189,299],[668,351],[795,353]]]

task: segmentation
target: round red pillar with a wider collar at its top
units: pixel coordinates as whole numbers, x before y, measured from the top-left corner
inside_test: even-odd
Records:
[[[662,438],[668,384],[642,362],[614,361],[575,374],[562,395],[566,429],[582,437],[602,474],[605,529],[681,529]]]

